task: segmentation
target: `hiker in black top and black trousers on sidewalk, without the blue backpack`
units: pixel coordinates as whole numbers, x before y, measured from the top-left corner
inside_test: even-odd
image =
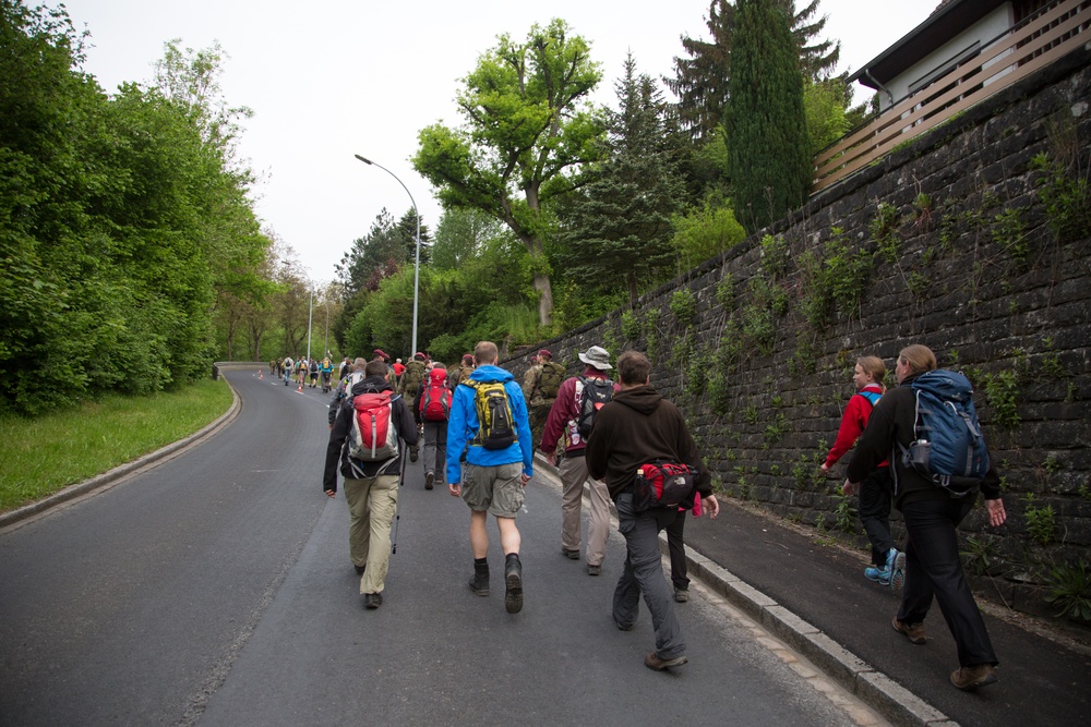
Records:
[[[884,395],[872,411],[867,428],[856,441],[856,453],[849,464],[846,487],[854,488],[894,450],[916,438],[916,398],[909,386],[915,377],[936,368],[936,356],[924,346],[910,346],[898,355],[895,375],[898,386]],[[933,596],[947,621],[958,646],[959,669],[951,683],[972,690],[996,681],[997,664],[993,644],[985,630],[978,604],[962,572],[956,528],[973,508],[974,495],[952,497],[946,489],[895,457],[895,507],[906,521],[906,586],[901,607],[891,622],[894,629],[912,643],[923,644],[924,618]],[[1000,500],[999,478],[990,468],[981,483],[988,522],[1004,524],[1006,513]]]

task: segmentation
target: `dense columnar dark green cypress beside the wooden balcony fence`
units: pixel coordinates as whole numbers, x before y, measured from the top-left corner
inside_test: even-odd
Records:
[[[750,231],[806,198],[812,166],[803,75],[777,0],[739,0],[726,128],[735,218]]]

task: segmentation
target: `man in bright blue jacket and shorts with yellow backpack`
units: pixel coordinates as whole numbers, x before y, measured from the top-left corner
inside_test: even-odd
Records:
[[[477,368],[455,388],[447,420],[447,452],[452,455],[447,458],[447,487],[470,508],[470,589],[479,596],[489,595],[485,524],[491,512],[505,557],[504,606],[508,614],[518,614],[523,609],[523,565],[515,517],[523,507],[523,489],[533,476],[535,449],[523,389],[512,374],[496,366],[499,359],[495,343],[478,343],[473,350]],[[465,464],[458,457],[463,451]]]

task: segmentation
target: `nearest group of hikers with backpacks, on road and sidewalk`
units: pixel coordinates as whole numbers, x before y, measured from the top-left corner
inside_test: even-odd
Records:
[[[365,608],[383,603],[403,458],[416,462],[423,439],[424,487],[446,484],[470,510],[470,591],[482,597],[491,592],[491,513],[504,557],[505,608],[519,613],[524,592],[516,519],[524,488],[533,476],[537,449],[558,468],[562,483],[561,555],[580,558],[586,487],[584,559],[587,573],[599,575],[612,504],[626,545],[613,593],[614,622],[632,630],[643,595],[656,632],[655,651],[645,664],[663,670],[688,661],[674,604],[688,599],[686,512],[719,514],[711,472],[683,414],[651,386],[652,364],[644,353],[623,352],[616,372],[601,347],[591,346],[577,358],[583,369],[570,376],[550,351],[538,351],[521,387],[497,365],[499,349],[490,341],[480,342],[449,372],[421,352],[404,365],[379,349],[371,361],[343,362],[329,404],[322,486],[335,497],[340,471],[350,512],[349,554]],[[616,380],[611,378],[614,373]],[[964,377],[938,371],[933,352],[916,344],[899,353],[895,378],[899,386],[887,391],[883,361],[856,361],[854,393],[823,470],[852,451],[842,492],[860,494],[860,518],[873,561],[864,577],[902,590],[891,626],[913,644],[926,643],[924,620],[933,601],[939,604],[958,646],[959,668],[950,680],[959,689],[973,690],[996,681],[997,658],[962,571],[956,529],[979,493],[990,523],[1004,523],[999,478],[976,428],[972,389]],[[944,421],[948,409],[960,424]],[[946,464],[951,457],[961,457],[956,465],[961,469],[945,472],[951,469]],[[900,550],[890,532],[891,507],[901,511],[904,522]],[[670,584],[659,552],[664,530]]]

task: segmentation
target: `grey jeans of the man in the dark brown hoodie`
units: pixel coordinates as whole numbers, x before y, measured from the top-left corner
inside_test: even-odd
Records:
[[[619,495],[614,505],[618,528],[625,536],[625,565],[614,589],[614,620],[619,626],[635,623],[643,593],[656,629],[656,654],[663,659],[681,656],[685,653],[685,639],[674,613],[673,594],[663,578],[663,556],[659,552],[659,531],[673,522],[678,509],[636,512],[630,493]]]

